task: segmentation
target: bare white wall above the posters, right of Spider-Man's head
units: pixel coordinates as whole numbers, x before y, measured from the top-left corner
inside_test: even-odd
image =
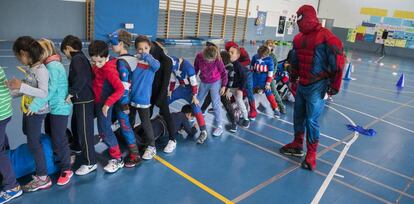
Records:
[[[319,17],[334,19],[334,26],[354,28],[369,16],[360,14],[361,7],[388,9],[388,17],[394,10],[414,11],[414,0],[320,0]]]

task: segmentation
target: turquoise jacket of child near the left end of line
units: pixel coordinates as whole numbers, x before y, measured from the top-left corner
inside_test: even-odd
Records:
[[[70,115],[72,105],[66,103],[68,95],[68,77],[65,68],[59,61],[51,61],[46,64],[49,72],[49,87],[46,98],[34,98],[30,104],[30,110],[38,112],[49,102],[50,113],[53,115]]]

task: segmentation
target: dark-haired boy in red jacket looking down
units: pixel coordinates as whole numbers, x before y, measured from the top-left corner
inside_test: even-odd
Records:
[[[103,141],[109,146],[109,155],[112,158],[108,161],[104,170],[108,173],[115,173],[124,167],[124,162],[118,141],[111,128],[112,105],[121,98],[125,89],[116,70],[117,60],[109,58],[108,45],[102,40],[95,40],[89,45],[88,51],[93,64],[94,79],[92,85],[95,95],[98,131]]]

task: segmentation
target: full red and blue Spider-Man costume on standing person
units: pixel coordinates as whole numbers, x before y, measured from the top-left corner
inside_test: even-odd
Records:
[[[286,155],[303,156],[306,132],[307,154],[302,167],[316,168],[319,143],[318,118],[322,114],[325,93],[337,94],[345,64],[342,42],[321,26],[312,6],[297,11],[300,33],[293,40],[290,52],[290,80],[299,85],[294,106],[295,139],[280,149]]]

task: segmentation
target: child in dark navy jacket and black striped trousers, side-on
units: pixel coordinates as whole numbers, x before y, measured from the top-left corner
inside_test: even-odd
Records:
[[[80,148],[82,157],[76,175],[82,176],[95,171],[96,156],[94,146],[94,94],[92,90],[92,68],[82,52],[82,41],[75,36],[66,36],[60,50],[71,61],[69,65],[69,90],[66,102],[73,103],[72,132],[73,142]],[[80,147],[80,145],[82,145]]]

